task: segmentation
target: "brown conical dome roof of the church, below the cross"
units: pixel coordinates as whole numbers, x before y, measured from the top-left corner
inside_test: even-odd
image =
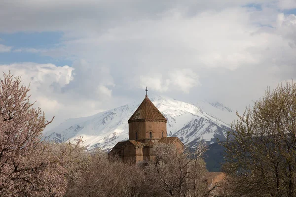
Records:
[[[128,123],[130,122],[140,122],[140,121],[160,121],[167,122],[166,118],[161,114],[161,112],[154,106],[148,96],[146,95],[143,102],[140,104],[135,113],[130,117]]]

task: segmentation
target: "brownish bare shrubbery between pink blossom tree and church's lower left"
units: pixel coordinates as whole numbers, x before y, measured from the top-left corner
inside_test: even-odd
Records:
[[[135,164],[124,164],[97,150],[84,155],[88,164],[69,185],[66,197],[142,197],[144,173]]]

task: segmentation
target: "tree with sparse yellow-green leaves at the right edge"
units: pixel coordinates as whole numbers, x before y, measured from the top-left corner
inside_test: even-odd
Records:
[[[248,107],[227,141],[227,196],[296,196],[296,84],[278,85]]]

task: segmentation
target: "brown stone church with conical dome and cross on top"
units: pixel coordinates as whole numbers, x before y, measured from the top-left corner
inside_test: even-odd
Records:
[[[152,148],[156,143],[173,144],[184,149],[178,137],[167,137],[167,120],[146,94],[135,113],[128,120],[129,140],[118,142],[110,151],[122,162],[153,161]]]

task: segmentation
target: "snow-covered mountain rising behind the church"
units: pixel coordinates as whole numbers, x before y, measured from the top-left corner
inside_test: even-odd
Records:
[[[190,147],[200,139],[208,143],[216,142],[217,138],[224,140],[229,120],[235,117],[234,112],[221,103],[202,101],[195,106],[160,96],[150,100],[166,117],[168,136],[177,136]],[[128,139],[127,121],[139,105],[140,102],[134,102],[93,116],[69,119],[43,135],[57,142],[74,142],[81,136],[88,150],[111,149],[118,141]]]

